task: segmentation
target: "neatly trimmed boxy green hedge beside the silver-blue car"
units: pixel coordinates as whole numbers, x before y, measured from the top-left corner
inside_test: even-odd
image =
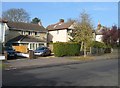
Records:
[[[73,42],[53,43],[53,52],[55,56],[75,56],[80,53],[80,44]]]

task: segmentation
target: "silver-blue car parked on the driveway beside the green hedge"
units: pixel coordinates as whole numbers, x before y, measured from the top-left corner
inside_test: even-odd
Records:
[[[48,47],[39,47],[34,51],[34,55],[48,56],[51,55],[51,50]]]

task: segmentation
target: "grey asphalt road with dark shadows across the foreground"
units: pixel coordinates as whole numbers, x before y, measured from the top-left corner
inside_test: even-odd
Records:
[[[118,60],[3,71],[4,86],[117,86]]]

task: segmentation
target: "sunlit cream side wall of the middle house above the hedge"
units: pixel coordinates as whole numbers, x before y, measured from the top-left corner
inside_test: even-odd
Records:
[[[49,31],[48,42],[68,42],[67,29]]]

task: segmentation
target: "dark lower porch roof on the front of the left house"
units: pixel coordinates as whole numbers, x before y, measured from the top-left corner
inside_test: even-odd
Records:
[[[11,40],[9,40],[8,42],[46,42],[44,40],[40,40],[40,39],[37,39],[35,37],[32,37],[32,36],[28,36],[28,35],[19,35]]]

